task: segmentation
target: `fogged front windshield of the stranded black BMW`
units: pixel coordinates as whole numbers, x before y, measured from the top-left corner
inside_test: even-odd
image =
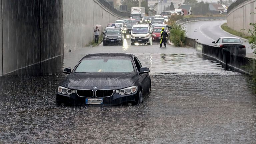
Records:
[[[133,72],[132,61],[128,57],[84,58],[75,72]]]

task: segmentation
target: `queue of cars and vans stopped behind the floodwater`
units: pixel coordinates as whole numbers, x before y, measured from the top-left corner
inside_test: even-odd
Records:
[[[115,23],[108,24],[103,31],[103,45],[123,45],[126,35],[130,35],[131,45],[135,45],[135,43],[150,45],[151,38],[153,41],[161,39],[159,27],[164,27],[165,31],[169,33],[165,24],[166,18],[163,16],[149,16],[144,19],[142,22],[135,16],[135,19],[116,20]],[[155,26],[157,26],[156,29],[154,29]]]

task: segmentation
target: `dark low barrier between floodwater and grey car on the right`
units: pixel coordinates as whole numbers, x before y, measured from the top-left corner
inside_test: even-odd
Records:
[[[230,51],[225,48],[216,48],[213,46],[202,44],[194,39],[187,37],[186,44],[188,46],[196,48],[197,51],[201,52],[203,55],[220,62],[225,69],[232,69],[246,74],[252,73],[252,71],[255,69],[255,59],[240,56],[236,53],[230,53]]]

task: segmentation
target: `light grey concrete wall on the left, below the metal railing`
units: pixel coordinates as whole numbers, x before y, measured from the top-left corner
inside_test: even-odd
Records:
[[[94,40],[94,26],[102,25],[100,32],[117,19],[97,0],[63,0],[64,53],[85,47]]]

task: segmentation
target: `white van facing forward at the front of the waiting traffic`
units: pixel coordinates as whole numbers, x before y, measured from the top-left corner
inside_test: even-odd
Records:
[[[131,45],[135,43],[147,43],[150,45],[150,31],[148,24],[133,25],[131,30]]]

